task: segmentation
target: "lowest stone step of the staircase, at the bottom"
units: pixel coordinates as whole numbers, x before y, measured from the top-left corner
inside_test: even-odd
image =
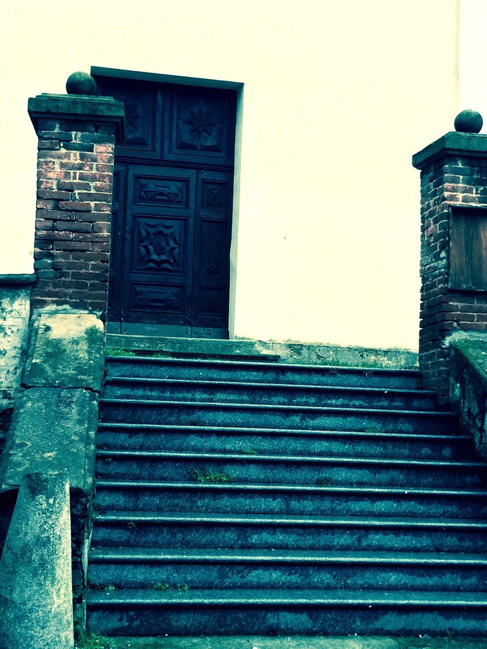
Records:
[[[92,591],[90,631],[111,635],[487,635],[487,594],[383,591]]]

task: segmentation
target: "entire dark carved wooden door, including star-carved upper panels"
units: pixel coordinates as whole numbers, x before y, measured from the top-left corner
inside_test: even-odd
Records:
[[[95,79],[125,103],[107,330],[228,337],[235,92]]]

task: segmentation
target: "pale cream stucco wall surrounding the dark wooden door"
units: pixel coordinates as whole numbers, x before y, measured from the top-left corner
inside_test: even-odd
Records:
[[[32,269],[27,97],[64,92],[72,71],[92,65],[238,81],[234,334],[416,347],[410,158],[453,128],[456,10],[456,0],[11,3],[0,43],[0,273]]]

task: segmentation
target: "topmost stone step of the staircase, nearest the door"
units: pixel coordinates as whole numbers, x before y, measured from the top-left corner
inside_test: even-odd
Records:
[[[108,376],[174,378],[213,381],[249,381],[308,386],[381,387],[418,389],[421,374],[411,369],[376,369],[332,365],[208,360],[201,358],[147,358],[106,356]]]

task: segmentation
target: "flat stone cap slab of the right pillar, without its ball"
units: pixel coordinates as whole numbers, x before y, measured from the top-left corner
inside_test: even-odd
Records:
[[[487,135],[478,133],[459,133],[455,130],[445,133],[418,153],[412,156],[412,165],[424,169],[438,158],[444,156],[481,157],[487,155]]]

